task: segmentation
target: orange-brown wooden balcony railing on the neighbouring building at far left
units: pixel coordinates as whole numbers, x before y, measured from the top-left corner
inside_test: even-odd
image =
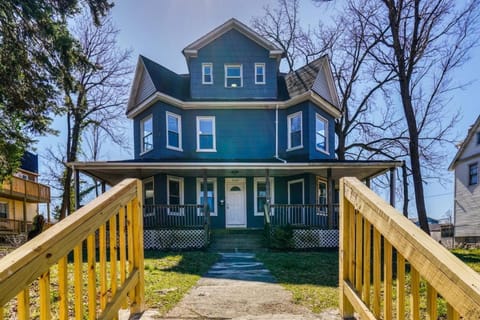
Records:
[[[50,202],[50,187],[15,176],[0,183],[0,194],[33,202]]]

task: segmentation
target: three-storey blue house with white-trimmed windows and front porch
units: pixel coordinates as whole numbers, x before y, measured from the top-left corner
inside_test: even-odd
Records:
[[[138,59],[126,110],[134,159],[72,164],[112,185],[143,180],[146,244],[195,246],[179,239],[205,225],[336,231],[338,179],[399,165],[336,160],[341,112],[327,56],[281,73],[283,50],[235,19],[182,53],[188,74]]]

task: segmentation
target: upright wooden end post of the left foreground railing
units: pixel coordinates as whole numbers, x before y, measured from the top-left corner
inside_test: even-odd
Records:
[[[132,314],[145,310],[145,276],[144,276],[144,254],[143,254],[143,184],[137,182],[137,197],[133,199],[133,239],[134,239],[134,269],[138,271],[138,283],[135,286],[135,303],[130,308]]]

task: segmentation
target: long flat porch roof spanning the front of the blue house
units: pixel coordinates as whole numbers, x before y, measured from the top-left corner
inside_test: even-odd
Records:
[[[311,173],[327,177],[331,169],[333,179],[356,177],[360,180],[373,178],[391,168],[400,167],[401,161],[354,161],[322,160],[315,162],[70,162],[69,166],[82,173],[115,185],[125,178],[144,179],[164,173],[178,176],[208,177],[265,176],[272,177]]]

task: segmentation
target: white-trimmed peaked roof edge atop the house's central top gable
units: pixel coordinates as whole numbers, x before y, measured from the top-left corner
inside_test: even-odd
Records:
[[[207,44],[211,43],[215,39],[218,39],[226,32],[235,29],[247,38],[255,41],[258,45],[264,47],[270,52],[270,57],[282,57],[283,50],[276,46],[274,43],[266,40],[265,38],[261,37],[258,33],[247,27],[245,24],[241,23],[237,19],[230,19],[221,26],[213,29],[200,39],[192,42],[185,49],[182,50],[182,53],[188,59],[189,57],[196,57],[198,54],[198,50],[206,46]]]

